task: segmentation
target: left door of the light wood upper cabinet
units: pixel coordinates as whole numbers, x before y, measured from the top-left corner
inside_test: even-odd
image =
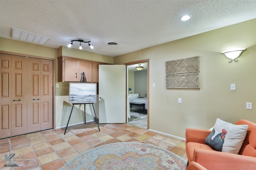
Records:
[[[64,59],[64,81],[78,82],[79,75],[79,61],[74,59]]]

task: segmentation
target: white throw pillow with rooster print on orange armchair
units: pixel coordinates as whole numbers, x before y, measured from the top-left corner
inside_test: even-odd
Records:
[[[205,143],[220,152],[238,154],[246,137],[248,125],[234,125],[217,118]]]

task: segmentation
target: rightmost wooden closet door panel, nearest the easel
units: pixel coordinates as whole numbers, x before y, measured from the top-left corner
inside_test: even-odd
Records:
[[[41,60],[41,130],[53,128],[53,62]]]

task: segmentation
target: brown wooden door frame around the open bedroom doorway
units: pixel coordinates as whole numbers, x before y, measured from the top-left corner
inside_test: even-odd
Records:
[[[133,64],[138,64],[138,63],[148,63],[148,70],[147,70],[147,93],[148,93],[148,109],[147,109],[147,116],[148,116],[148,122],[147,122],[147,129],[149,129],[149,97],[150,97],[150,93],[149,93],[149,59],[144,59],[144,60],[139,60],[139,61],[133,61],[133,62],[129,62],[129,63],[124,63],[126,65],[126,71],[127,71],[127,66],[128,65],[133,65]],[[126,74],[126,90],[128,89],[127,86],[128,86],[128,82],[127,82],[127,74]],[[126,91],[126,104],[127,104],[127,94],[128,92]],[[126,106],[126,110],[127,110],[127,107],[129,106]],[[126,117],[127,117],[127,113],[126,113]]]

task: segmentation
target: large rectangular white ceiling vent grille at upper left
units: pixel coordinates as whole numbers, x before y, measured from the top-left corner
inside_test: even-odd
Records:
[[[29,43],[40,44],[40,45],[44,45],[50,40],[49,37],[36,35],[34,33],[29,33],[19,29],[15,29],[15,28],[12,28],[11,38],[18,39],[20,41],[26,41]]]

